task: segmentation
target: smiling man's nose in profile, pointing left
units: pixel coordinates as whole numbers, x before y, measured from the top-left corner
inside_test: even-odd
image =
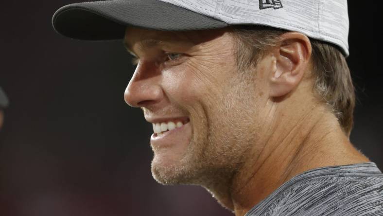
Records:
[[[158,103],[162,96],[160,72],[154,64],[140,61],[124,93],[131,107],[146,107]]]

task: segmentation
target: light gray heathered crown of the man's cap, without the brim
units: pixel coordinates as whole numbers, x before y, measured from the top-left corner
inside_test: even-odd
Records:
[[[348,56],[347,0],[161,0],[229,25],[266,25],[327,41]]]

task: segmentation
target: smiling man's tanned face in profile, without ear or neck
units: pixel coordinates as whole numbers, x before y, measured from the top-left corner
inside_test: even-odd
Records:
[[[254,80],[237,71],[231,34],[128,28],[125,42],[139,57],[125,101],[148,122],[183,123],[152,135],[154,178],[201,184],[232,175],[255,137],[257,99]]]

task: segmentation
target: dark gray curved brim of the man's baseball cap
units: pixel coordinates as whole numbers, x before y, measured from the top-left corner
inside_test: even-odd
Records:
[[[127,26],[162,31],[217,29],[226,22],[159,0],[105,0],[74,3],[58,9],[53,28],[84,40],[122,39]]]

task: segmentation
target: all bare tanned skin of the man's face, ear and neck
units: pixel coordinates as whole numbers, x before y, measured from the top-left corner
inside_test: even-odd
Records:
[[[245,72],[237,71],[230,29],[128,28],[125,43],[139,57],[125,101],[149,122],[190,119],[166,145],[151,145],[152,174],[162,184],[201,185],[243,216],[299,173],[369,161],[316,98],[302,34],[282,35]]]

